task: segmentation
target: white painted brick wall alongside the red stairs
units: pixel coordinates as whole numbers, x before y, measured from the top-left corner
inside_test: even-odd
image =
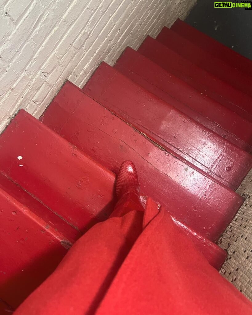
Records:
[[[196,0],[0,0],[0,132],[39,117],[66,79],[82,87],[105,60],[138,48]]]

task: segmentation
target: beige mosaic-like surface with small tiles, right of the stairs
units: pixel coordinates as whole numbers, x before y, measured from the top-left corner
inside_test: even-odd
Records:
[[[219,239],[227,251],[220,273],[252,301],[252,169],[236,192],[245,201]]]

